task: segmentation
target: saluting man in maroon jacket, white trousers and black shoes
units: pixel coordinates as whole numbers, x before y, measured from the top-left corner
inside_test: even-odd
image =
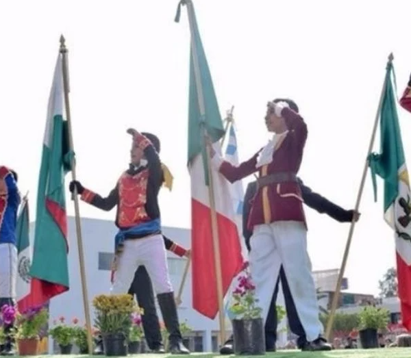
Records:
[[[273,139],[247,162],[233,166],[225,162],[209,143],[212,165],[230,182],[259,172],[248,225],[253,235],[249,255],[256,296],[264,323],[269,312],[280,268],[306,333],[304,350],[330,350],[322,337],[310,257],[307,252],[306,216],[297,172],[307,139],[307,125],[289,99],[268,103],[266,127]]]

